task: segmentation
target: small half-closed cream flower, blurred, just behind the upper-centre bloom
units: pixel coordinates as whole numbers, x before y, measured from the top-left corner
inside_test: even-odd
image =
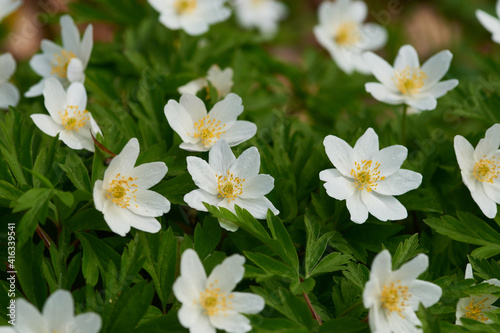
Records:
[[[207,72],[207,77],[202,77],[188,82],[186,85],[177,89],[179,94],[196,95],[204,87],[208,87],[208,83],[217,90],[219,98],[226,97],[233,87],[233,69],[228,67],[221,70],[219,66],[212,65]]]

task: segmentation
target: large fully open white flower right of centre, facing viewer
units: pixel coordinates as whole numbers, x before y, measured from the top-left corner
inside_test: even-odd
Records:
[[[351,220],[364,223],[371,213],[381,221],[401,220],[408,216],[406,208],[393,197],[416,189],[422,175],[400,169],[408,150],[390,146],[379,150],[378,136],[371,128],[361,136],[354,148],[344,140],[329,135],[323,141],[326,154],[336,169],[323,170],[319,178],[326,193],[346,200]]]

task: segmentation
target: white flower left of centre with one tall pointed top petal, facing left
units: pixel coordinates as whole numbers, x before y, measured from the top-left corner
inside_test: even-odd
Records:
[[[94,203],[104,214],[111,231],[125,236],[130,227],[146,232],[160,231],[155,217],[170,210],[170,201],[148,190],[167,174],[163,162],[141,164],[134,168],[139,157],[139,141],[136,138],[123,147],[104,172],[104,179],[94,185]]]

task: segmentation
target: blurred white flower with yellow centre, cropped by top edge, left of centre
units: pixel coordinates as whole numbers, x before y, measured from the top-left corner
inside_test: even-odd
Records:
[[[160,22],[169,29],[182,29],[196,36],[208,31],[211,24],[231,15],[225,0],[148,0],[160,12]]]

